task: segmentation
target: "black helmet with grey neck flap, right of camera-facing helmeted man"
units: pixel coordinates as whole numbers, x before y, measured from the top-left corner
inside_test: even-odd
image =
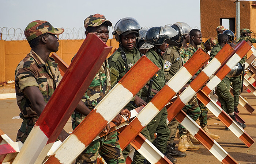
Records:
[[[177,32],[170,26],[151,27],[147,30],[145,36],[145,43],[140,49],[146,50],[154,47],[155,45],[161,46],[163,42],[167,42],[173,36],[176,36]]]

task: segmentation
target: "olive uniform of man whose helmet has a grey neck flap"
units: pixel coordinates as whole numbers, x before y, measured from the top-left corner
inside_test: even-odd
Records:
[[[161,68],[151,79],[153,80],[152,89],[157,91],[161,90],[165,86],[165,75],[163,71],[164,60],[162,56],[159,56],[152,48],[146,53],[148,59],[151,60],[156,66]],[[149,85],[149,82],[148,82]],[[151,95],[153,92],[151,92]],[[146,98],[147,90],[142,93],[143,97]],[[170,136],[170,130],[166,124],[167,109],[164,107],[158,114],[150,121],[150,123],[142,130],[143,136],[149,141],[153,142],[155,147],[162,153],[166,153],[167,140]],[[157,138],[155,138],[157,133]],[[135,151],[133,155],[132,164],[143,163],[144,157],[140,155],[138,151]]]

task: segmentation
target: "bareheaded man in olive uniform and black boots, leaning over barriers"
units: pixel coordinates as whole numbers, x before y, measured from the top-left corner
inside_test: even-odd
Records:
[[[215,55],[221,50],[221,48],[228,43],[229,38],[226,34],[219,34],[218,36],[218,44],[212,48],[211,54],[210,54],[210,61],[212,58],[214,58]],[[227,86],[227,83],[225,79],[223,79],[218,86],[216,87],[216,94],[218,95],[218,99],[221,102],[221,108],[229,114],[229,116],[236,121],[236,116],[234,114],[234,98],[230,94],[229,87]],[[246,125],[242,124],[238,121],[236,121],[238,125],[240,125],[242,128],[245,128]],[[226,127],[226,130],[228,128]]]

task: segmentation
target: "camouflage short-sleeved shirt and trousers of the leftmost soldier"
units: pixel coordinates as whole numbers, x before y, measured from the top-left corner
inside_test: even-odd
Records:
[[[33,50],[19,63],[15,70],[15,90],[17,104],[20,109],[22,125],[18,130],[16,141],[25,142],[38,119],[32,104],[23,93],[29,86],[37,86],[47,103],[61,80],[59,68],[52,57],[45,63]]]

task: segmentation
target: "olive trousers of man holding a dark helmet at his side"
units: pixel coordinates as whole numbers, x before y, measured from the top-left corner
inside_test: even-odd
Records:
[[[227,88],[230,88],[231,82],[232,82],[232,88],[233,88],[233,95],[234,95],[234,106],[238,106],[239,104],[239,95],[241,93],[241,87],[242,87],[242,80],[241,75],[237,77],[225,77],[224,78],[225,83],[227,84]]]

